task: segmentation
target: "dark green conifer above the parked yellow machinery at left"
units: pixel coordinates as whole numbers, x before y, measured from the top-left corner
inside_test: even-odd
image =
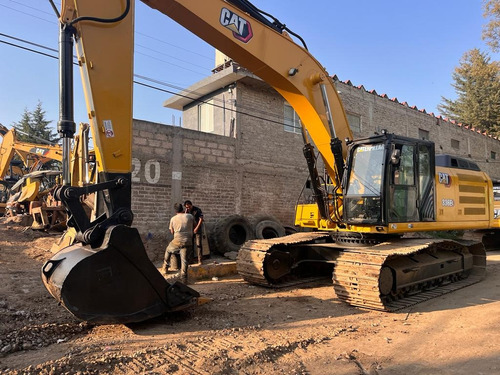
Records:
[[[45,118],[42,103],[38,102],[33,111],[29,111],[27,108],[24,109],[21,120],[14,123],[14,127],[27,134],[18,134],[21,141],[40,143],[40,139],[36,138],[38,137],[49,142],[56,142],[58,137],[52,133],[52,129],[49,127],[51,122]]]

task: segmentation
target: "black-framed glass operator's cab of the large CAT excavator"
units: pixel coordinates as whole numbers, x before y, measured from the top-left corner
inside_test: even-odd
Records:
[[[433,221],[434,144],[382,134],[350,144],[344,180],[348,224]]]

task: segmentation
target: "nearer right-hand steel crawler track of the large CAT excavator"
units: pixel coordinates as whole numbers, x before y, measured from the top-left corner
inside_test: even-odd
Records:
[[[435,252],[453,252],[472,256],[472,267],[427,278],[411,286],[396,286],[391,293],[380,293],[384,267],[416,256]],[[453,261],[446,261],[453,262]],[[333,285],[337,297],[350,305],[374,310],[397,311],[417,303],[475,284],[484,277],[486,255],[481,244],[442,239],[402,239],[371,248],[344,249],[336,259]],[[392,268],[392,267],[391,267]],[[411,272],[406,265],[402,273]]]

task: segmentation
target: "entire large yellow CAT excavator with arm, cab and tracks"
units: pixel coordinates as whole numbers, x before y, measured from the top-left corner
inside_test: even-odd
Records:
[[[333,274],[338,298],[390,311],[483,277],[481,243],[415,234],[498,228],[485,173],[461,166],[465,160],[436,158],[429,141],[387,132],[354,141],[322,65],[300,36],[248,1],[143,2],[262,78],[301,119],[315,201],[297,207],[296,224],[311,230],[245,243],[237,260],[245,280],[275,286]],[[133,0],[63,0],[59,15],[63,152],[68,155],[75,132],[76,43],[98,178],[94,185],[71,186],[69,167],[63,165],[64,186],[56,195],[79,242],[46,262],[42,278],[71,313],[95,322],[140,321],[193,306],[199,297],[181,283],[164,280],[131,227],[133,13]],[[327,178],[320,177],[315,149]],[[93,221],[80,204],[89,192],[103,203],[102,215]]]

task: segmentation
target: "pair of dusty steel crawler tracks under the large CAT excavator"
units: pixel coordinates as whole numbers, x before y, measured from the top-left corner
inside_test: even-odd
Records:
[[[291,273],[294,257],[272,254],[298,247],[331,254],[326,261],[335,265],[332,279],[340,300],[381,311],[397,311],[475,284],[486,268],[482,244],[472,241],[406,238],[349,248],[333,243],[328,233],[313,232],[246,242],[238,255],[238,272],[252,284],[288,285],[287,277],[269,277],[273,268],[269,262],[284,259]]]

